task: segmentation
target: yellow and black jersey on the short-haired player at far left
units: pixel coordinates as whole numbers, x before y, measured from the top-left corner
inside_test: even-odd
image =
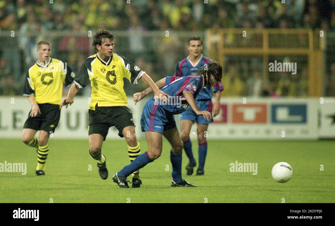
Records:
[[[37,61],[27,72],[23,95],[35,95],[37,103],[60,104],[63,83],[70,86],[75,77],[67,63],[60,60],[50,58],[46,66],[41,66]]]

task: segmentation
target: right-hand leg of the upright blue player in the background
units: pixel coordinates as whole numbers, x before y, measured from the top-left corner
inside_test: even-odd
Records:
[[[198,147],[199,165],[196,175],[204,174],[204,166],[207,155],[207,141],[206,141],[207,129],[208,124],[198,124],[197,134],[198,134],[198,145],[199,145]]]

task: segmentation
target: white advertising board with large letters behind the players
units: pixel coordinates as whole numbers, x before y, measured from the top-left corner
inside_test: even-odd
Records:
[[[140,119],[146,99],[134,105],[128,97],[128,107],[133,112],[138,138]],[[75,98],[68,108],[63,107],[61,119],[52,139],[87,138],[88,102],[85,97]],[[0,97],[0,137],[20,138],[23,124],[31,105],[26,97]],[[335,98],[224,98],[220,114],[214,118],[207,131],[208,139],[306,139],[335,137]],[[176,116],[179,128],[179,116]],[[107,139],[118,137],[115,127]],[[196,125],[191,138],[196,139]]]

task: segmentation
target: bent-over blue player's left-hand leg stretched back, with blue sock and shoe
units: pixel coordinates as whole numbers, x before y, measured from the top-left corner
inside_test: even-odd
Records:
[[[157,159],[162,152],[161,133],[145,131],[145,136],[148,142],[149,150],[136,157],[134,161],[123,167],[123,169],[118,171],[113,176],[113,181],[116,182],[120,187],[128,187],[127,182],[129,181],[126,178],[136,170],[143,168],[146,164]]]

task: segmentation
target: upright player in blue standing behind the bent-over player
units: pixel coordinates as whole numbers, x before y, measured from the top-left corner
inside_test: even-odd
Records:
[[[190,52],[190,55],[184,60],[180,61],[177,64],[175,70],[175,76],[187,76],[187,75],[195,75],[197,74],[200,67],[208,64],[212,60],[204,57],[201,54],[203,49],[202,41],[200,37],[191,37],[188,40],[187,49]],[[223,90],[223,86],[221,81],[218,81],[214,84],[213,91],[215,93],[215,103],[212,103],[212,86],[208,85],[204,87],[199,95],[195,98],[195,103],[199,107],[200,110],[206,110],[209,112],[213,112],[213,117],[219,114],[220,112],[220,96],[221,91]],[[206,120],[202,115],[197,115],[192,108],[184,111],[180,115],[180,131],[181,138],[184,143],[184,150],[186,152],[187,157],[189,158],[189,163],[186,166],[187,175],[192,175],[193,167],[195,167],[196,161],[193,157],[192,152],[192,143],[190,140],[190,131],[194,122],[197,122],[197,134],[198,134],[198,155],[199,155],[199,165],[197,169],[196,175],[204,175],[204,165],[207,154],[207,141],[206,141],[206,131],[208,128],[208,124],[212,122],[211,120]]]

